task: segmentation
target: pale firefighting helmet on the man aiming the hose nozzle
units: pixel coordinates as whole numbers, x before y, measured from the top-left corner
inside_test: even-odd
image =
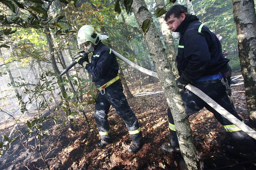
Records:
[[[92,44],[97,45],[100,40],[100,34],[91,25],[82,26],[77,33],[78,45],[83,44],[87,41],[92,42]]]

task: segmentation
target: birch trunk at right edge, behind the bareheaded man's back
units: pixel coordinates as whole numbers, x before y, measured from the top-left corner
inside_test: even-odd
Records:
[[[253,0],[232,0],[249,117],[256,122],[256,15]]]

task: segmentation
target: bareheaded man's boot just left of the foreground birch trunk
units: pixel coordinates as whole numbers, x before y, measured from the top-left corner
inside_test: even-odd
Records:
[[[170,143],[163,144],[160,149],[164,152],[180,152],[180,145],[178,142],[177,132],[170,129]]]

